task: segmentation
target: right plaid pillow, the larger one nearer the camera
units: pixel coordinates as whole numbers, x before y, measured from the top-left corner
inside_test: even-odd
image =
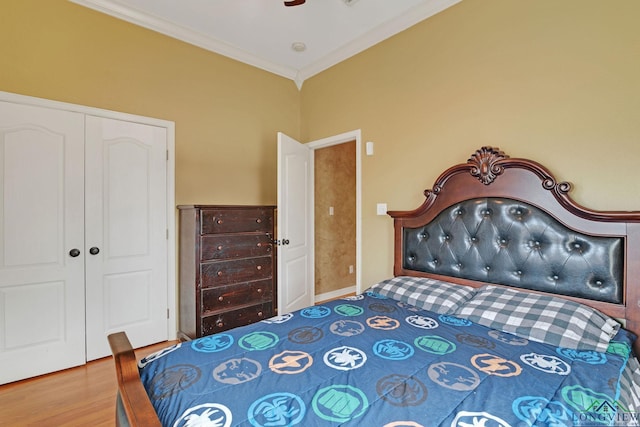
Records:
[[[496,286],[478,289],[455,316],[532,341],[602,353],[620,328],[585,305]]]

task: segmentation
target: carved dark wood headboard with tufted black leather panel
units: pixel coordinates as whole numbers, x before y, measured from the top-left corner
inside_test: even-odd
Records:
[[[388,212],[393,272],[561,295],[640,335],[640,211],[588,209],[570,190],[537,162],[482,147],[418,208]]]

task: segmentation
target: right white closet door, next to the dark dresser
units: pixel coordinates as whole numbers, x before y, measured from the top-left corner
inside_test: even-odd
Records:
[[[87,116],[87,360],[167,340],[166,128]]]

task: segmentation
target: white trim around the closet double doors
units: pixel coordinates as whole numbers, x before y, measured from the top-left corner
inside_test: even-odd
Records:
[[[118,111],[84,105],[70,104],[27,95],[0,91],[0,100],[16,104],[33,105],[57,110],[72,111],[96,115],[116,120],[125,120],[167,129],[167,336],[170,340],[177,337],[176,312],[176,207],[175,207],[175,123],[168,120],[138,116]]]

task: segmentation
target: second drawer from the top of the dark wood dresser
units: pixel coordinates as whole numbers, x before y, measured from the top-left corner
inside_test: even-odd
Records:
[[[270,256],[273,236],[262,233],[214,234],[200,238],[202,261]]]

